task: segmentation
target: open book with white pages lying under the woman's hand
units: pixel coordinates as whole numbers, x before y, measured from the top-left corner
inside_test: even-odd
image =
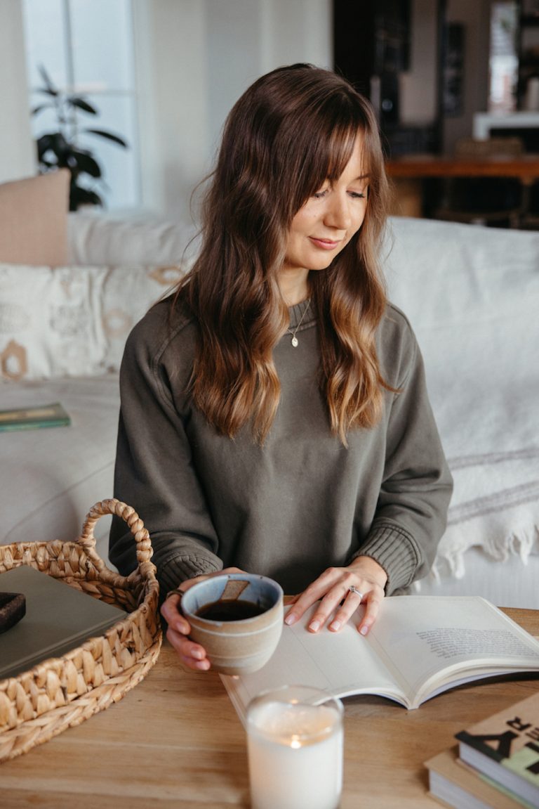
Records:
[[[472,680],[539,672],[539,640],[479,596],[390,596],[367,637],[356,629],[359,614],[339,633],[310,633],[306,626],[315,609],[284,625],[262,669],[221,676],[242,720],[253,697],[285,684],[325,688],[336,697],[377,694],[419,708]]]

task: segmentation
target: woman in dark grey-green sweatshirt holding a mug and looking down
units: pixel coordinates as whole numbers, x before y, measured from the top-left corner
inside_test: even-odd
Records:
[[[179,614],[200,577],[239,568],[319,601],[316,632],[427,573],[451,477],[410,325],[377,251],[387,183],[377,122],[309,65],[259,78],[229,114],[203,242],[176,294],[128,339],[116,497],[154,546],[168,637],[206,670]],[[124,523],[111,559],[135,567]]]

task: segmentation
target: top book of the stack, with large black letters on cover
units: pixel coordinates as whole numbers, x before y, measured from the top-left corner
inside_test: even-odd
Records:
[[[457,733],[466,764],[539,807],[539,684],[524,700]]]

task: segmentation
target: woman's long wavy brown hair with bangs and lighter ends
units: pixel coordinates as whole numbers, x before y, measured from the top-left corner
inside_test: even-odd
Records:
[[[358,134],[369,176],[363,225],[328,269],[309,275],[318,316],[320,379],[331,430],[381,417],[386,388],[375,335],[385,311],[378,266],[388,187],[373,110],[347,81],[298,64],[259,78],[225,122],[202,209],[202,244],[176,297],[200,324],[196,406],[221,434],[251,424],[263,443],[280,398],[273,349],[289,326],[277,275],[297,211],[338,178]]]

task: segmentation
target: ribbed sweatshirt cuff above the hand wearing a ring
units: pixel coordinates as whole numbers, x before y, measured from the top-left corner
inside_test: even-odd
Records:
[[[377,561],[387,574],[386,595],[408,587],[422,561],[419,545],[411,534],[389,520],[373,523],[364,544],[350,561],[368,556]]]

